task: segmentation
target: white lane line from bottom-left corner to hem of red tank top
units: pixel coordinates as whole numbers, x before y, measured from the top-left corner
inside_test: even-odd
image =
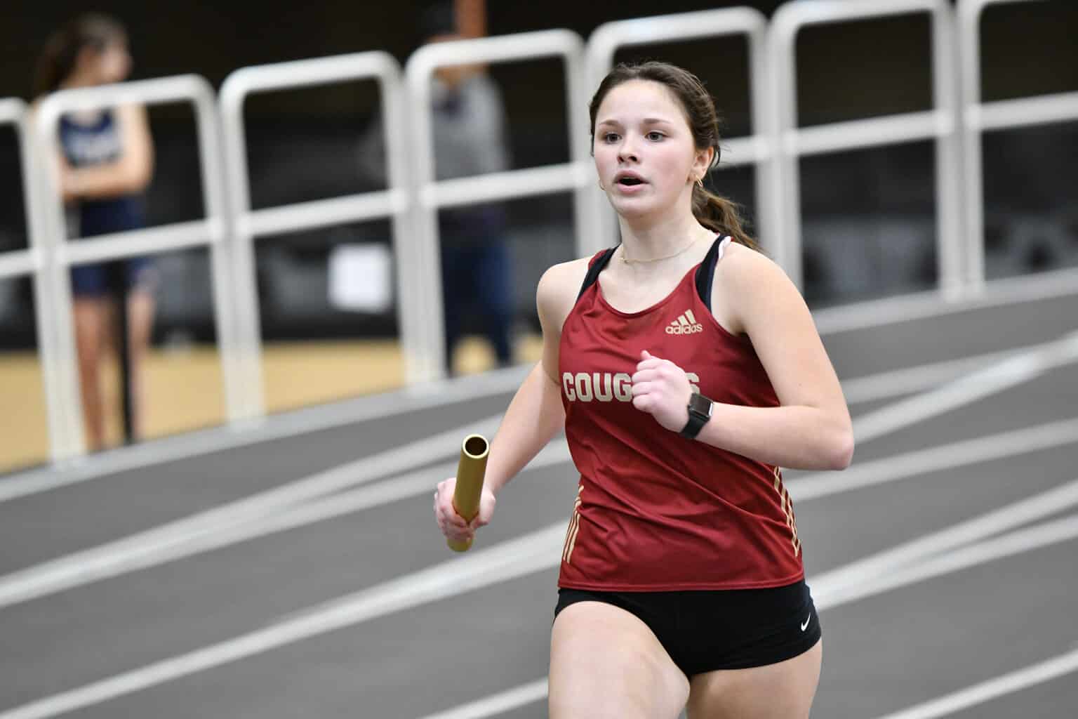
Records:
[[[564,535],[563,524],[540,529],[341,597],[294,619],[15,707],[0,714],[0,719],[40,719],[73,711],[376,617],[541,571],[557,565]]]

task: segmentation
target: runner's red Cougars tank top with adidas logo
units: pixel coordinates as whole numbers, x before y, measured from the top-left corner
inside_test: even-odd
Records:
[[[716,240],[673,292],[637,313],[607,304],[594,281],[610,251],[592,258],[558,357],[565,432],[580,471],[559,586],[729,590],[804,577],[779,469],[683,439],[632,404],[631,377],[647,349],[716,402],[778,405],[749,340],[727,332],[708,308],[718,250]]]

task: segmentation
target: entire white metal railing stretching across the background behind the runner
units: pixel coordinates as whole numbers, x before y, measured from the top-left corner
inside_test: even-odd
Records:
[[[606,198],[595,183],[588,99],[610,68],[617,49],[624,45],[748,36],[752,135],[725,140],[729,151],[723,164],[757,165],[761,238],[798,285],[802,261],[799,158],[935,139],[941,292],[934,296],[954,299],[977,291],[984,285],[981,134],[1078,117],[1078,93],[980,102],[981,14],[989,4],[1020,1],[1032,0],[959,0],[957,28],[948,0],[814,0],[782,5],[770,25],[755,10],[733,8],[609,23],[597,28],[586,45],[569,30],[461,40],[420,47],[409,59],[403,77],[390,55],[357,53],[243,68],[226,79],[220,106],[208,83],[196,75],[64,91],[42,101],[32,125],[24,102],[0,100],[0,123],[13,123],[19,134],[30,231],[26,250],[0,255],[0,277],[30,275],[34,281],[52,457],[56,461],[84,451],[68,277],[72,264],[208,245],[226,406],[230,421],[236,423],[264,413],[254,239],[388,217],[401,289],[398,319],[406,376],[409,383],[441,376],[438,210],[572,191],[577,252],[591,254],[604,247],[613,233],[613,215],[604,213]],[[802,27],[914,12],[931,15],[932,109],[798,126],[794,42]],[[960,58],[960,72],[955,71],[953,53]],[[430,102],[434,70],[541,57],[561,57],[565,64],[569,162],[436,181]],[[246,98],[271,89],[362,79],[376,80],[384,98],[388,189],[252,210],[243,121]],[[170,101],[191,101],[195,107],[206,217],[68,243],[54,163],[44,162],[59,152],[59,117],[79,109]],[[604,220],[609,221],[605,231]]]

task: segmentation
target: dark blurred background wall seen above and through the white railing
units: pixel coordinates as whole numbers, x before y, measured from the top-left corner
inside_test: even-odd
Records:
[[[799,1],[799,0],[794,0]],[[870,2],[871,0],[860,0]],[[782,4],[668,0],[654,3],[542,3],[488,0],[488,30],[507,34],[569,28],[586,39],[602,23],[662,13],[748,4],[770,16]],[[133,79],[193,72],[220,87],[233,70],[265,63],[365,50],[385,50],[401,63],[417,46],[415,17],[424,2],[295,3],[270,1],[149,3],[99,2],[95,9],[127,24],[135,57]],[[81,2],[9,0],[0,24],[0,97],[30,99],[33,66],[49,33]],[[983,96],[1006,99],[1078,89],[1078,3],[1050,0],[992,8],[983,23]],[[930,107],[930,44],[926,15],[810,28],[798,41],[799,108],[804,125]],[[746,43],[723,38],[636,49],[619,59],[657,57],[688,67],[705,80],[725,119],[725,134],[751,132]],[[528,167],[568,157],[561,65],[538,60],[493,70],[506,97],[513,163]],[[252,201],[255,207],[342,195],[375,186],[356,162],[356,138],[377,110],[373,83],[347,83],[252,98],[247,106]],[[151,110],[157,152],[148,194],[151,222],[202,215],[194,128],[182,105]],[[1075,225],[1066,205],[1076,186],[1076,123],[991,134],[985,142],[990,250],[1003,258],[990,272],[1049,268],[1067,261],[1061,250],[1031,262],[1026,240],[1015,238],[1014,218],[1038,218],[1052,226]],[[25,246],[25,218],[17,150],[10,128],[0,128],[0,251]],[[932,144],[825,155],[802,163],[805,217],[806,295],[812,302],[848,301],[930,286],[934,262]],[[723,192],[752,216],[752,171],[719,172]],[[519,281],[523,316],[531,313],[534,278],[526,268],[545,266],[571,253],[571,205],[567,196],[509,203],[513,243],[525,272]],[[1032,219],[1031,219],[1032,218]],[[1054,218],[1054,219],[1053,219]],[[868,224],[866,224],[868,223]],[[882,224],[881,224],[882,223]],[[1069,224],[1068,224],[1069,223]],[[894,226],[906,227],[899,254],[888,259]],[[1025,226],[1025,225],[1023,225]],[[1041,231],[1038,231],[1041,232]],[[889,234],[888,234],[889,233]],[[911,234],[912,233],[912,234]],[[848,240],[835,237],[851,235]],[[900,233],[901,234],[901,233]],[[1044,232],[1041,232],[1044,234]],[[869,236],[871,241],[858,237]],[[267,336],[393,332],[389,315],[335,313],[324,299],[326,255],[353,241],[385,241],[385,223],[268,238],[259,244],[263,328]],[[848,259],[856,243],[860,264]],[[1027,243],[1026,243],[1027,244]],[[1058,244],[1058,243],[1055,243]],[[1054,246],[1054,245],[1053,245]],[[874,248],[866,254],[862,249]],[[1019,247],[1020,249],[1014,249]],[[902,249],[904,248],[904,249]],[[205,252],[163,258],[169,282],[162,298],[158,335],[177,328],[211,334]],[[1024,263],[1024,264],[1023,264]],[[906,269],[893,277],[890,266]],[[309,300],[309,301],[308,301]],[[28,282],[0,284],[2,344],[32,341]],[[306,304],[305,304],[306,303]]]

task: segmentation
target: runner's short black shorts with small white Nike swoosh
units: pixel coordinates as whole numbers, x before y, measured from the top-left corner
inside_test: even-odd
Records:
[[[804,581],[762,590],[596,592],[559,589],[556,618],[578,602],[613,605],[652,631],[689,678],[717,669],[775,664],[802,654],[821,637]]]

